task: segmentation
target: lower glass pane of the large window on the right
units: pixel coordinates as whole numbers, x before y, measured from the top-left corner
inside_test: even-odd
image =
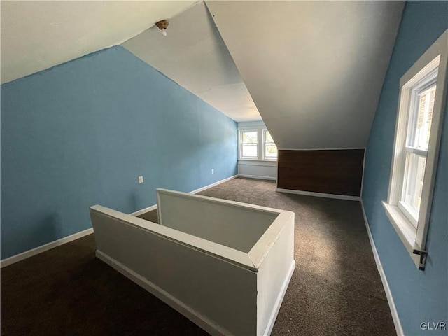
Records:
[[[405,166],[405,181],[401,200],[409,204],[419,213],[421,190],[425,176],[426,158],[414,153],[407,153]]]

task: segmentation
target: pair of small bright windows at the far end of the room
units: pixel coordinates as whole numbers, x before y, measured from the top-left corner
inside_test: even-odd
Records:
[[[246,123],[249,125],[238,128],[238,160],[265,161],[262,165],[274,165],[277,160],[277,146],[272,135],[262,122]]]

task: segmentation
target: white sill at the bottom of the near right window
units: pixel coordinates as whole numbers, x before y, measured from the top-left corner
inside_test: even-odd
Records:
[[[415,244],[416,229],[397,206],[393,206],[391,204],[388,204],[387,202],[382,203],[384,209],[386,210],[386,216],[389,218],[389,221],[391,221],[393,228],[398,234],[398,237],[400,237],[402,243],[405,245],[407,252],[418,268],[420,265],[420,256],[413,253],[414,248],[417,247]]]

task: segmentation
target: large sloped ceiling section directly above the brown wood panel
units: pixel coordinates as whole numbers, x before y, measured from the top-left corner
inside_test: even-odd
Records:
[[[206,3],[279,148],[366,146],[403,2]]]

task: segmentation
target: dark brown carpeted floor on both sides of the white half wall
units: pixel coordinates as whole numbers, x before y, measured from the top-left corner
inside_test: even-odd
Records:
[[[251,179],[201,195],[295,212],[297,267],[272,335],[396,335],[359,202]],[[1,335],[207,335],[94,250],[89,235],[1,269]]]

